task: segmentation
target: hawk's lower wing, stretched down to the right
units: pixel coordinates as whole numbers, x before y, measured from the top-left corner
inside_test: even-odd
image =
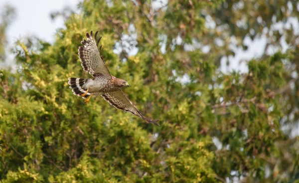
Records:
[[[110,105],[116,107],[117,109],[131,112],[132,114],[147,120],[149,123],[153,123],[155,125],[160,126],[156,123],[159,120],[151,120],[149,118],[144,117],[144,115],[142,115],[142,113],[136,108],[136,106],[131,102],[131,100],[129,100],[127,95],[122,90],[105,93],[101,96],[104,97],[104,99],[108,101]]]

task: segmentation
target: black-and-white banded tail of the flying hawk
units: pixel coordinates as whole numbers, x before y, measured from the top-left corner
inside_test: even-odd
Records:
[[[72,88],[72,92],[74,95],[78,95],[81,97],[82,94],[86,93],[86,90],[82,88],[82,85],[84,85],[89,79],[83,79],[83,78],[73,78],[69,77],[68,84],[71,85],[70,88]],[[82,98],[86,99],[91,95],[91,93],[87,93]]]

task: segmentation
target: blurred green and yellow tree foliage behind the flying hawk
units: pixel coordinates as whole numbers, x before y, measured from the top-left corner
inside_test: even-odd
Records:
[[[66,26],[53,44],[18,41],[17,72],[0,70],[0,182],[299,182],[298,1],[79,7],[53,14]],[[1,22],[3,54],[9,21]],[[73,95],[67,78],[90,77],[78,59],[90,30],[103,36],[110,72],[132,86],[125,93],[160,127]],[[247,70],[221,70],[220,60],[261,38],[265,49]]]

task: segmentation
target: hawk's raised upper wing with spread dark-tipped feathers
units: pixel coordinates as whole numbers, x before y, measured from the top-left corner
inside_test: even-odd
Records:
[[[90,35],[88,32],[86,32],[87,39],[83,39],[83,41],[81,41],[83,46],[79,46],[78,49],[79,58],[82,62],[81,65],[84,71],[89,72],[89,74],[91,74],[94,77],[99,74],[111,76],[98,50],[99,41],[102,37],[100,37],[96,42],[95,39],[97,37],[97,33],[98,31],[95,34],[95,38],[93,38],[92,31],[90,31]]]

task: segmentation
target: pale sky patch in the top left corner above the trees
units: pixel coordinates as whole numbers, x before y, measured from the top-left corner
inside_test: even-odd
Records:
[[[8,54],[9,48],[21,37],[34,35],[53,43],[56,29],[64,27],[64,20],[62,17],[52,20],[50,13],[62,10],[65,6],[78,10],[77,4],[80,1],[82,0],[0,0],[0,12],[5,4],[14,7],[16,12],[15,19],[7,29],[8,46],[6,47],[5,64],[13,65],[13,63],[9,63],[14,57],[13,54]],[[12,68],[12,70],[14,69]]]

